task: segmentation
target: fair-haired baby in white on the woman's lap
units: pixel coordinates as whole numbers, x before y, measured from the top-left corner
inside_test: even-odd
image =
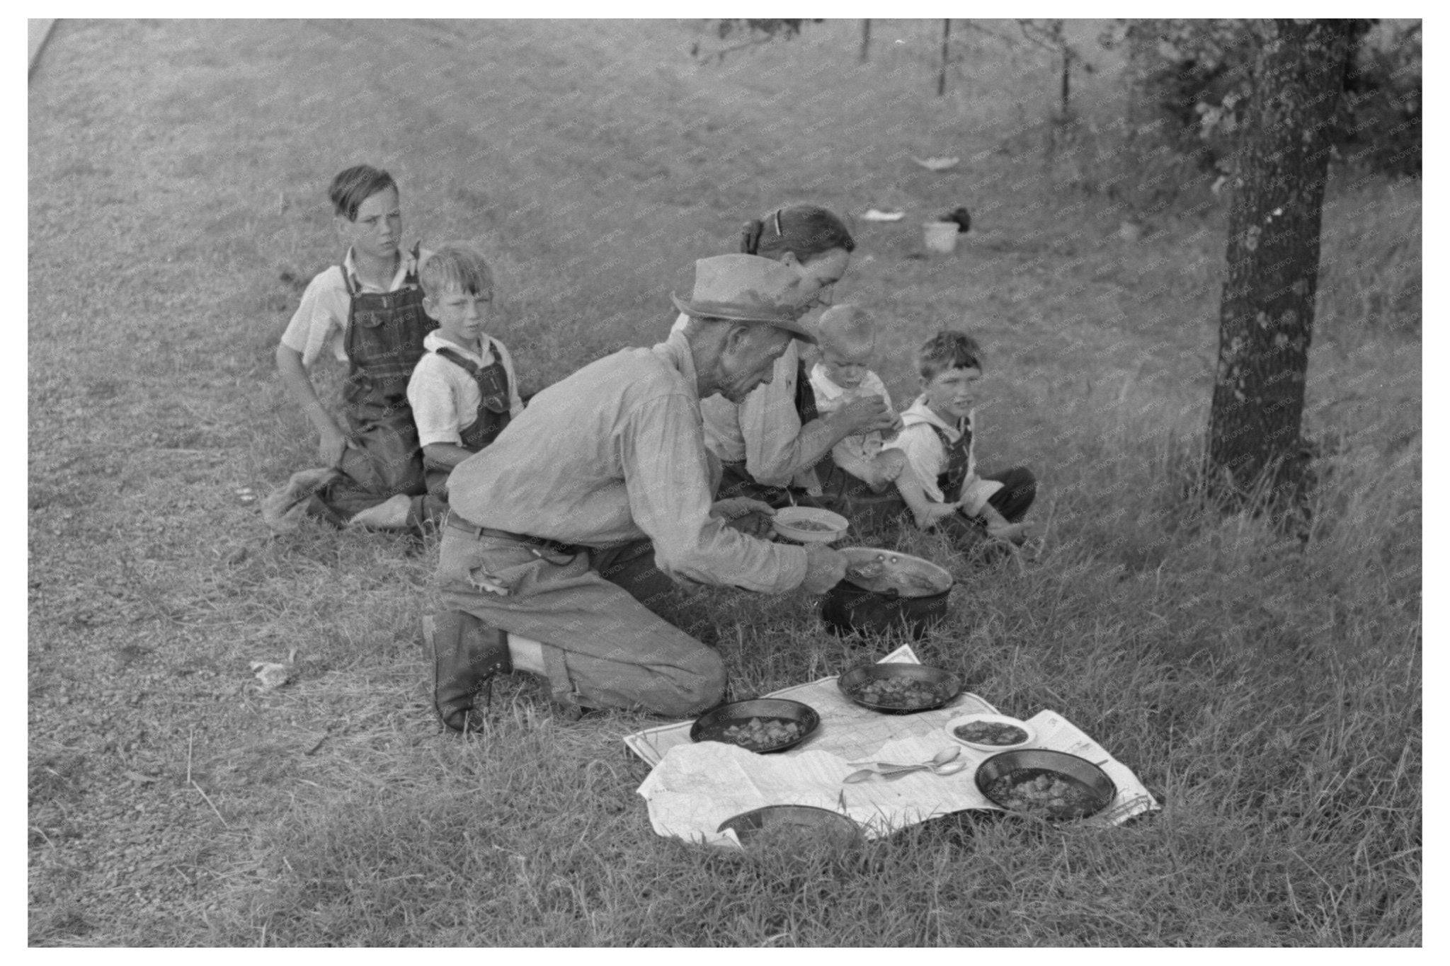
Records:
[[[879,395],[892,407],[886,384],[871,371],[876,361],[876,326],[866,310],[857,306],[828,308],[816,326],[821,361],[811,368],[811,388],[815,391],[816,411],[828,416],[851,400]],[[890,433],[900,432],[900,419]],[[847,436],[831,448],[831,458],[842,471],[882,492],[896,484],[902,498],[922,523],[927,498],[921,479],[899,449],[882,449],[884,437],[879,432]]]

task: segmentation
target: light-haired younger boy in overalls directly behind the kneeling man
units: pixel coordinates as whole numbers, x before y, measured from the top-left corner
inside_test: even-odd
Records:
[[[419,271],[423,310],[438,329],[407,381],[432,516],[448,501],[448,474],[523,411],[513,359],[489,336],[493,275],[473,248],[444,245]]]

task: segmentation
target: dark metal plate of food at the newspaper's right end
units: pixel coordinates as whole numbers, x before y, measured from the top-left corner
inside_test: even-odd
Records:
[[[1095,815],[1118,797],[1118,786],[1099,766],[1047,749],[993,755],[977,766],[976,782],[1002,808],[1048,821]]]

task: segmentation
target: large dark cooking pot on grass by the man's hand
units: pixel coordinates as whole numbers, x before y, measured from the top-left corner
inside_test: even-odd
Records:
[[[821,620],[838,634],[906,630],[921,640],[947,616],[954,579],[944,568],[877,547],[845,547],[841,553],[847,576],[821,601]]]

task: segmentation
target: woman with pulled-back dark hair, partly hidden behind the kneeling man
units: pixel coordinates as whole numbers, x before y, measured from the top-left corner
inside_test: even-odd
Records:
[[[802,280],[813,306],[831,303],[831,287],[845,275],[856,240],[845,223],[818,204],[789,204],[745,223],[740,251],[786,265]],[[684,316],[674,327],[684,324]],[[847,436],[895,432],[899,417],[879,397],[854,400],[829,416],[816,411],[800,342],[776,361],[770,382],[735,406],[724,397],[700,400],[705,442],[722,463],[718,498],[751,497],[771,507],[831,504],[824,484],[840,475],[831,448]]]

